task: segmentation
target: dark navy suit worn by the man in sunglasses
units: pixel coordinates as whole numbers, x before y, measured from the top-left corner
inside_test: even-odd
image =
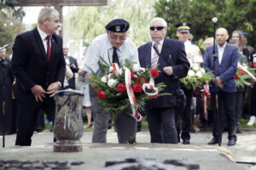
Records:
[[[138,48],[140,65],[144,68],[151,67],[152,42]],[[172,66],[172,76],[166,75],[163,68]],[[152,143],[177,144],[177,131],[175,127],[175,106],[177,104],[177,89],[180,88],[178,79],[186,77],[189,71],[184,44],[174,39],[165,38],[160,58],[158,60],[159,77],[155,83],[164,82],[166,88],[161,93],[171,95],[160,96],[147,102],[148,126]]]

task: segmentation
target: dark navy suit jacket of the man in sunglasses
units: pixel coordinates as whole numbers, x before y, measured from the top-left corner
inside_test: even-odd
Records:
[[[150,68],[151,66],[151,47],[152,42],[148,42],[138,48],[140,65],[144,68]],[[172,66],[172,76],[166,75],[163,71],[163,67],[166,66]],[[166,88],[161,93],[171,95],[150,99],[147,105],[148,109],[173,107],[176,105],[177,89],[180,88],[178,79],[187,76],[189,66],[183,42],[165,38],[158,60],[160,75],[154,81],[155,83],[164,82]]]

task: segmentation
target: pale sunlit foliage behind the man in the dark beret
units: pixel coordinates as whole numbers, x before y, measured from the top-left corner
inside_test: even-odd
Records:
[[[122,18],[130,22],[129,36],[137,45],[150,41],[148,25],[154,18],[155,0],[109,0],[108,6],[77,7],[64,20],[70,37],[91,42],[105,33],[109,21]]]

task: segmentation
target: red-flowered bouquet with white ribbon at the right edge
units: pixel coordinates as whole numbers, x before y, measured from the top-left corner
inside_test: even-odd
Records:
[[[244,87],[246,86],[252,86],[254,82],[256,82],[256,77],[254,77],[255,71],[253,68],[249,67],[245,63],[238,64],[235,80],[236,80],[236,87]]]

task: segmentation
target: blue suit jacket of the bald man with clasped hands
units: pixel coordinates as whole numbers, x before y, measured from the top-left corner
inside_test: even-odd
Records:
[[[204,54],[204,62],[203,66],[207,69],[207,71],[213,71],[213,56],[212,56],[213,46],[207,48],[206,53]],[[215,46],[216,53],[218,54],[218,47]],[[237,68],[237,62],[239,59],[238,49],[235,46],[230,44],[226,44],[224,48],[224,54],[219,65],[217,60],[216,72],[214,73],[216,77],[219,77],[224,83],[224,88],[221,88],[221,91],[227,93],[236,92],[236,82],[235,82],[235,74]],[[216,88],[214,86],[210,86],[211,92],[216,92]]]

